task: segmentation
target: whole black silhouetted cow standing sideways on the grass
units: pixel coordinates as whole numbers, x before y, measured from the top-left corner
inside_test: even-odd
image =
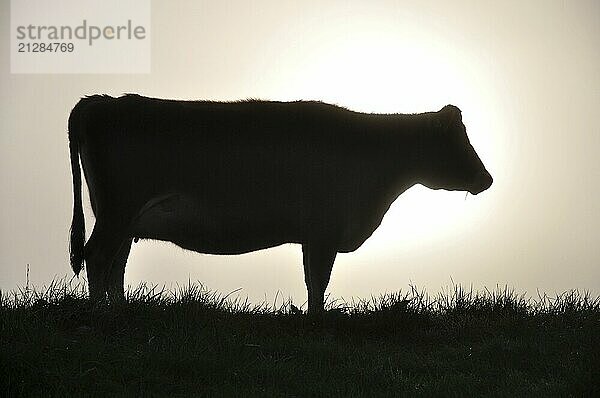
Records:
[[[302,246],[308,312],[323,312],[337,253],[358,249],[415,184],[492,185],[453,105],[366,114],[318,101],[92,95],[68,122],[70,262],[92,300],[124,296],[132,240],[209,254]],[[81,169],[96,217],[85,243]]]

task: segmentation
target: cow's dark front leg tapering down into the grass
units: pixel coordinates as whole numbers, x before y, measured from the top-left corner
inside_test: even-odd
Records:
[[[323,312],[325,289],[337,251],[330,245],[303,244],[304,281],[308,289],[308,313]]]

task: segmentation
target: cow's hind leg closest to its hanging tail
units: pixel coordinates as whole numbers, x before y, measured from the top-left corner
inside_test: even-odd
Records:
[[[124,240],[125,236],[118,228],[111,227],[110,223],[96,221],[84,250],[92,301],[100,301],[106,297],[111,267]]]

